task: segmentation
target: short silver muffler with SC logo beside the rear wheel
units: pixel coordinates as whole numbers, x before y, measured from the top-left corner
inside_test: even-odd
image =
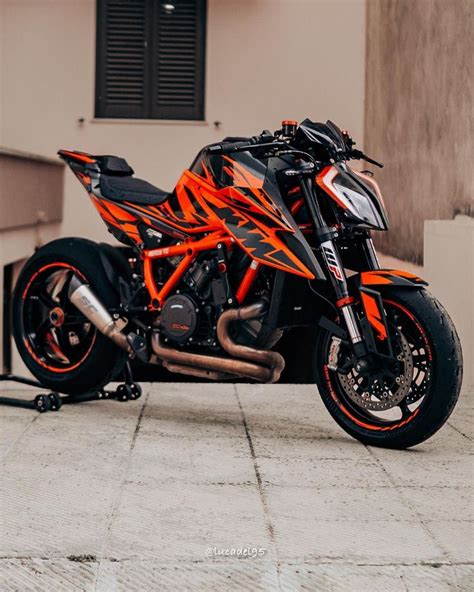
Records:
[[[109,311],[100,302],[90,287],[73,275],[69,283],[69,300],[78,308],[89,321],[99,329],[106,337],[116,345],[132,352],[132,347],[127,337],[121,332],[118,325],[110,316]]]

